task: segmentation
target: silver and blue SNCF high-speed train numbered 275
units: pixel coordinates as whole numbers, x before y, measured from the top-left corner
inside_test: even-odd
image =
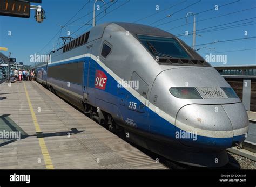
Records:
[[[37,82],[164,157],[220,167],[248,116],[203,57],[174,35],[132,23],[93,27],[34,65]]]

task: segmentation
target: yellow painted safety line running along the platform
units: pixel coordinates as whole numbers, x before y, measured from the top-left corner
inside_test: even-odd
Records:
[[[24,88],[25,88],[25,92],[26,92],[26,99],[28,100],[28,103],[29,103],[29,109],[30,109],[30,112],[31,112],[33,123],[34,123],[35,128],[36,128],[36,132],[41,132],[41,129],[39,127],[39,124],[38,124],[38,121],[37,121],[37,118],[36,118],[36,114],[33,110],[32,104],[30,102],[28,90],[26,90],[26,85],[25,85],[24,82],[23,82],[23,84],[24,84]],[[44,162],[45,162],[45,165],[46,165],[46,169],[54,169],[52,161],[51,161],[51,157],[48,153],[47,147],[46,147],[45,142],[44,142],[44,138],[38,138],[38,140],[39,140],[39,146],[41,148],[41,152],[42,152],[43,157],[44,157]]]

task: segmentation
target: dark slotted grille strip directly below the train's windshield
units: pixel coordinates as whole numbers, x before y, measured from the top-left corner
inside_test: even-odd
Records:
[[[161,65],[184,65],[184,66],[210,66],[208,62],[205,60],[197,60],[197,59],[168,59],[168,58],[159,58],[159,63]]]

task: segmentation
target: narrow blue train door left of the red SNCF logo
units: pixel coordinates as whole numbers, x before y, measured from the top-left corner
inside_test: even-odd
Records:
[[[89,56],[85,57],[84,60],[84,80],[83,80],[83,98],[88,99],[88,84],[89,84],[89,64],[90,64],[90,54],[92,52],[92,45],[87,46],[86,48],[86,54],[89,54]]]

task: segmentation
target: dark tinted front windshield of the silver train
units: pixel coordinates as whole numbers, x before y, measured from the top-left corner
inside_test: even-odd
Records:
[[[152,37],[148,35],[138,35],[138,38],[154,56],[191,59],[174,38]]]

